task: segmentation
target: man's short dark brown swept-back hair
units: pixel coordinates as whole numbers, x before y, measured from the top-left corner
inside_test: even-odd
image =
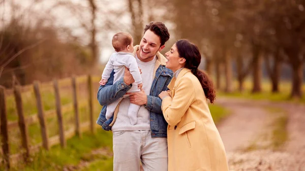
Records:
[[[149,24],[147,24],[144,28],[144,34],[147,30],[153,31],[156,35],[159,36],[161,45],[164,45],[165,42],[169,40],[169,32],[167,30],[167,27],[162,22],[158,21],[151,21]]]

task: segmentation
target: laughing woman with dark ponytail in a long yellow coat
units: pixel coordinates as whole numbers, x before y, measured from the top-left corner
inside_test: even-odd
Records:
[[[198,70],[198,47],[179,40],[165,55],[166,67],[174,72],[169,90],[159,94],[168,123],[168,170],[228,170],[225,148],[207,104],[207,99],[215,100],[215,87]]]

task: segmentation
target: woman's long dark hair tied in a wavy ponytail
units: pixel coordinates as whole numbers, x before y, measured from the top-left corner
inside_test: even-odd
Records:
[[[192,70],[192,73],[198,78],[203,88],[205,97],[213,104],[216,98],[216,91],[212,80],[203,71],[198,70],[201,62],[201,54],[196,45],[188,40],[182,39],[176,42],[179,56],[186,59],[185,67]]]

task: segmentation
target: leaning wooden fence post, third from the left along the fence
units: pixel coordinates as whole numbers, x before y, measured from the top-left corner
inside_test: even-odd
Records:
[[[43,104],[41,100],[40,90],[39,90],[39,83],[37,81],[34,82],[34,92],[37,102],[37,112],[38,112],[38,119],[41,129],[42,145],[46,150],[49,150],[49,141],[48,141],[49,137],[46,128],[46,121],[44,119],[44,111],[43,111]]]

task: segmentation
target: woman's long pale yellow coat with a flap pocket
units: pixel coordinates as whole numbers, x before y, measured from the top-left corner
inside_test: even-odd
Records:
[[[197,77],[182,69],[168,88],[171,97],[162,101],[168,123],[168,170],[228,170],[225,147]]]

